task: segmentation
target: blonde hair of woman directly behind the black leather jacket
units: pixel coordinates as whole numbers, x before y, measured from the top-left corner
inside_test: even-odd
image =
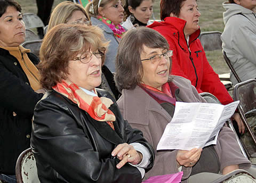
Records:
[[[82,11],[86,18],[90,20],[83,6],[70,1],[65,1],[58,4],[52,11],[48,31],[60,23],[67,23],[68,19],[72,16],[74,11]]]

